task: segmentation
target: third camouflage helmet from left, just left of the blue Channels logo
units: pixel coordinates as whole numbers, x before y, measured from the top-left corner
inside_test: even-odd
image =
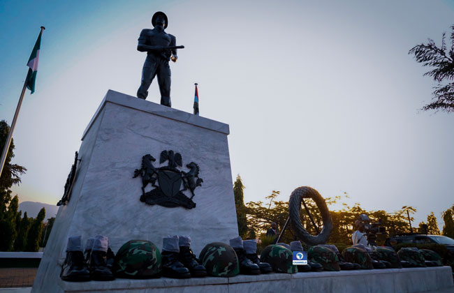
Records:
[[[272,244],[265,247],[260,261],[271,264],[272,270],[277,273],[298,273],[298,266],[293,265],[293,253],[284,246]]]

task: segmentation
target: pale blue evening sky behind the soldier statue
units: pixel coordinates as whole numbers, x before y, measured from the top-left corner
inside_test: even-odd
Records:
[[[151,17],[177,38],[172,105],[228,123],[244,201],[299,186],[415,223],[454,204],[454,114],[424,112],[434,82],[408,54],[450,33],[454,1],[0,1],[0,119],[10,123],[43,33],[36,92],[13,135],[20,201],[56,204],[85,127],[108,89],[136,95]],[[159,103],[156,80],[147,100]],[[332,206],[339,209],[341,206]]]

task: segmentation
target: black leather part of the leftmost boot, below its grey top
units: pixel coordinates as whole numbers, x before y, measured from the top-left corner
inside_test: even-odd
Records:
[[[66,259],[61,266],[60,278],[69,282],[90,280],[90,271],[82,251],[66,252]]]

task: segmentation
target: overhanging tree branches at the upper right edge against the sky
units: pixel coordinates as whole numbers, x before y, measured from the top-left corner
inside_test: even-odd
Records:
[[[446,33],[443,33],[440,47],[429,38],[427,44],[421,43],[409,51],[418,63],[433,68],[424,75],[432,77],[438,83],[432,93],[432,103],[425,105],[423,110],[454,112],[454,25],[451,30],[449,51],[446,48]]]

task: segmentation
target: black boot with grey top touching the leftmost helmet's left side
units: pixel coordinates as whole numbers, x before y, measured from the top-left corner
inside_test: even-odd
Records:
[[[92,280],[114,280],[115,277],[112,271],[108,268],[107,250],[108,238],[101,235],[96,235],[91,248],[89,258],[89,270]]]

